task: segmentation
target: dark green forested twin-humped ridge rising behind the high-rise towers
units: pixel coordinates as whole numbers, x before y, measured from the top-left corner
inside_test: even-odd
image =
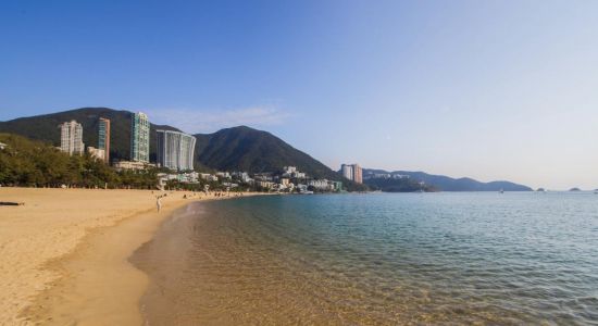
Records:
[[[85,145],[97,146],[98,118],[105,117],[111,121],[111,158],[127,160],[130,151],[130,114],[129,111],[108,108],[83,108],[0,122],[0,133],[17,134],[59,146],[58,125],[76,120],[83,125]],[[149,118],[151,122],[151,116]],[[152,161],[155,160],[155,129],[160,128],[178,130],[173,126],[151,124],[150,159]],[[364,186],[345,179],[320,161],[266,131],[240,126],[194,136],[197,138],[196,166],[258,173],[276,172],[285,165],[295,165],[312,177],[341,180],[351,190],[366,189]]]

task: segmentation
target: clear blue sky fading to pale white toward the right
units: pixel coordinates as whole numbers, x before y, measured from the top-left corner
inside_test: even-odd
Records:
[[[2,1],[0,121],[272,131],[338,168],[598,188],[598,1]]]

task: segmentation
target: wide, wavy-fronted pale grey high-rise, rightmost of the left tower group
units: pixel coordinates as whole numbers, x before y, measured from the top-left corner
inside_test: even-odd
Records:
[[[185,133],[157,130],[157,163],[171,170],[194,170],[196,138]]]

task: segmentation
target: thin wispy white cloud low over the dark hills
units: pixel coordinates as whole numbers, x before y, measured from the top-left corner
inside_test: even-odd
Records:
[[[289,117],[288,113],[274,106],[233,110],[161,109],[146,112],[152,123],[170,125],[191,134],[211,133],[240,125],[274,126],[283,124]]]

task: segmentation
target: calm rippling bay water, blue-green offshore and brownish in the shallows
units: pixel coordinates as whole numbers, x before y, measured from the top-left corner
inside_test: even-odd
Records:
[[[133,261],[150,325],[598,324],[598,196],[196,203]]]

